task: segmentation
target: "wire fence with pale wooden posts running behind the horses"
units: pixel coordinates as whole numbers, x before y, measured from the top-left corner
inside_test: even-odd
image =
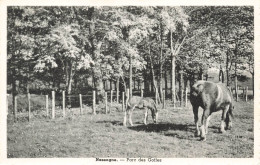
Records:
[[[236,101],[248,101],[253,99],[253,91],[248,90],[248,87],[238,87],[237,92],[234,88],[229,88]],[[163,90],[161,96],[158,90],[155,93],[147,93],[141,90],[133,91],[133,95],[149,96],[153,98],[156,104],[160,104],[162,108],[166,108],[166,94]],[[177,94],[178,93],[178,94]],[[55,93],[54,91],[48,95],[18,95],[13,98],[7,95],[7,114],[14,116],[14,121],[28,120],[31,118],[65,118],[74,115],[83,114],[107,114],[112,111],[123,112],[126,108],[126,102],[129,96],[129,89],[126,92],[107,90],[105,91],[104,102],[100,102],[100,92],[89,91],[87,94],[66,95],[65,91],[62,93]],[[169,97],[168,97],[169,98]],[[12,100],[14,99],[14,100]],[[174,108],[183,108],[188,106],[189,90],[176,92],[175,103],[167,102],[168,106]],[[13,103],[14,105],[13,106]],[[14,109],[13,109],[14,107]]]

